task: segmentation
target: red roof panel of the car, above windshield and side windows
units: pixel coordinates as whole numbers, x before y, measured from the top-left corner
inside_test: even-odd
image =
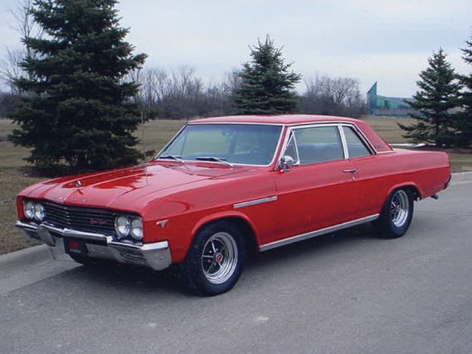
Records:
[[[226,117],[203,118],[191,120],[189,124],[200,123],[253,123],[253,124],[307,124],[320,122],[350,122],[359,120],[332,115],[286,114],[286,115],[229,115]]]

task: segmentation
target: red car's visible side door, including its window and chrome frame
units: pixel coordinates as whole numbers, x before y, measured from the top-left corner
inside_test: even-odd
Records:
[[[356,170],[345,156],[339,124],[295,127],[284,156],[295,165],[276,176],[279,234],[287,237],[346,223],[359,205]]]

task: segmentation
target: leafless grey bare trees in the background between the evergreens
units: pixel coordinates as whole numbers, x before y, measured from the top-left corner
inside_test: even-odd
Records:
[[[192,119],[240,114],[232,101],[238,86],[236,72],[227,73],[220,82],[205,83],[191,66],[173,71],[142,68],[130,74],[138,82],[133,97],[151,119]],[[352,77],[315,76],[303,80],[303,92],[295,93],[293,113],[344,115],[359,118],[366,114],[366,102],[359,80]],[[21,93],[13,87],[0,91],[0,118],[9,117]]]

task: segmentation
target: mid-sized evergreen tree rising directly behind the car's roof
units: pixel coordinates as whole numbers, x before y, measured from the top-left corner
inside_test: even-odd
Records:
[[[236,73],[239,83],[232,95],[236,109],[242,114],[292,113],[297,104],[293,88],[301,75],[289,71],[292,64],[284,64],[281,48],[275,48],[268,35],[264,43],[258,40],[249,48],[251,62]]]

